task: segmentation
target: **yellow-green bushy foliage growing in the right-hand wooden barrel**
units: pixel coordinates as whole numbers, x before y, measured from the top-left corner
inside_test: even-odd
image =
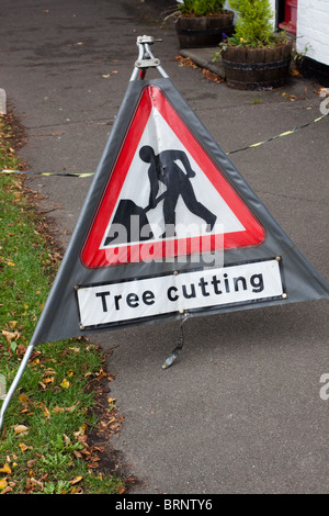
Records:
[[[250,47],[273,45],[272,15],[269,0],[229,0],[230,8],[239,14],[231,45]]]

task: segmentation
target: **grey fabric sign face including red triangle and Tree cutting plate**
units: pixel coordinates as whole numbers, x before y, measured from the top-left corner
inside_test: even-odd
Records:
[[[33,343],[328,296],[170,79],[133,80]]]

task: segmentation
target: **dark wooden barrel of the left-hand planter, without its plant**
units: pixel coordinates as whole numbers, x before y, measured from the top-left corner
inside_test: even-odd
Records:
[[[223,41],[223,33],[231,34],[232,23],[232,11],[212,16],[180,16],[175,22],[180,48],[217,46]]]

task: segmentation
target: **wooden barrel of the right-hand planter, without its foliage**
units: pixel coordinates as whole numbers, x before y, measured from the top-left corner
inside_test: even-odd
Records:
[[[227,86],[239,90],[279,88],[286,83],[292,43],[274,48],[227,46],[222,58]]]

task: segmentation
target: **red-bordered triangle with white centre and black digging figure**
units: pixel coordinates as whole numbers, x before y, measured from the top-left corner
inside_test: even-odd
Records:
[[[81,258],[87,267],[259,245],[264,229],[162,90],[143,90]]]

